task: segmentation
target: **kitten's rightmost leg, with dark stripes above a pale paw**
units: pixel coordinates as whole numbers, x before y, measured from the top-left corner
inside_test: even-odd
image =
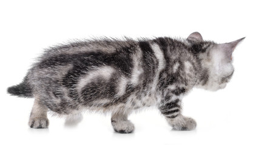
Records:
[[[197,126],[194,119],[184,117],[181,114],[181,100],[179,98],[169,101],[169,103],[163,103],[160,106],[160,111],[175,130],[193,130]]]

